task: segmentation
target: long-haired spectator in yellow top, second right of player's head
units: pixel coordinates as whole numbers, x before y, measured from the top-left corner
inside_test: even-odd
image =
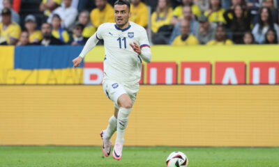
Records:
[[[151,15],[151,30],[157,33],[161,26],[169,25],[172,19],[172,8],[169,0],[158,0],[156,11]]]

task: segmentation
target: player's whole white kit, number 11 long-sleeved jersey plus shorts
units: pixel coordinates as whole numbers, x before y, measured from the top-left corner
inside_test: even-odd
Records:
[[[103,89],[107,97],[117,106],[119,96],[127,93],[135,102],[135,96],[140,88],[139,81],[142,72],[142,61],[151,61],[151,49],[146,30],[134,22],[129,22],[126,29],[119,29],[115,23],[105,23],[98,27],[89,38],[80,56],[83,58],[98,40],[104,40],[105,60]],[[142,54],[138,55],[130,43],[140,46]]]

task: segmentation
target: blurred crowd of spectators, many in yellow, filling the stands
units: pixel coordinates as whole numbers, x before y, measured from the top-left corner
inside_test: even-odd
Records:
[[[20,15],[26,1],[0,0],[0,45],[84,45],[100,24],[114,22],[116,0],[33,0],[40,1],[39,15]],[[130,21],[150,26],[155,45],[279,42],[279,0],[130,2]]]

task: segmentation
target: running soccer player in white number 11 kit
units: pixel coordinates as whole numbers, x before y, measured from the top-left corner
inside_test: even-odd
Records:
[[[116,143],[112,156],[121,159],[124,132],[128,116],[135,102],[142,72],[142,60],[151,61],[151,49],[145,29],[129,22],[130,3],[118,0],[114,3],[115,23],[105,23],[98,27],[96,33],[89,38],[80,56],[73,60],[74,67],[82,62],[82,58],[103,39],[105,45],[103,90],[114,102],[114,116],[109,120],[107,129],[100,135],[103,139],[103,153],[110,155],[112,142],[110,138],[117,131]]]

